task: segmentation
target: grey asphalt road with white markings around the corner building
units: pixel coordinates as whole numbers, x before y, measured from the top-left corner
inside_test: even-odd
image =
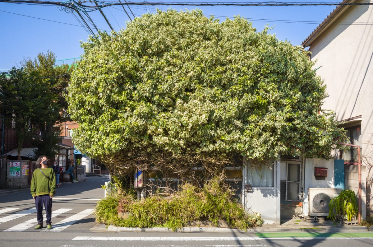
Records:
[[[104,196],[109,176],[65,183],[53,197],[52,230],[35,230],[36,212],[29,189],[0,194],[0,246],[4,247],[243,247],[243,246],[372,246],[372,232],[258,234],[253,232],[101,232],[92,211]]]

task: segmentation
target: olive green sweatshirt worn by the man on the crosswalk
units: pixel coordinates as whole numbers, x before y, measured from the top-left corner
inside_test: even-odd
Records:
[[[47,179],[40,171],[41,168],[36,168],[32,173],[31,179],[31,195],[41,196],[49,194],[53,196],[56,193],[56,175],[53,168],[41,169],[43,173],[49,178]]]

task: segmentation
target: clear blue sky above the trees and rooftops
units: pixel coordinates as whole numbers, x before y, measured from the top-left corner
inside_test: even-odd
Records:
[[[123,2],[123,1],[122,1]],[[227,1],[228,2],[228,1]],[[185,6],[171,6],[185,10]],[[156,11],[157,6],[130,6],[136,17]],[[168,6],[158,6],[166,10]],[[196,7],[189,6],[188,9]],[[322,22],[335,6],[211,6],[198,7],[205,15],[214,15],[223,21],[226,17],[240,15],[250,19],[257,31],[268,24],[270,33],[293,45],[302,41]],[[128,7],[125,7],[133,19]],[[116,31],[126,27],[128,16],[120,6],[105,7],[103,12]],[[97,10],[89,15],[98,29],[110,31],[101,13]],[[272,21],[276,20],[276,21]],[[302,23],[301,23],[302,21]],[[305,23],[306,22],[306,23]],[[24,58],[34,58],[48,50],[56,54],[57,60],[80,57],[83,50],[80,41],[87,41],[88,32],[72,13],[66,13],[53,5],[31,5],[0,2],[1,36],[0,69],[18,67]]]

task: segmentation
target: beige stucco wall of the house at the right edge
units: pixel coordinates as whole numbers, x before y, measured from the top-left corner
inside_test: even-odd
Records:
[[[323,109],[343,120],[361,115],[363,164],[367,166],[367,209],[373,212],[373,6],[352,6],[310,45],[317,74],[325,80]],[[365,22],[365,23],[364,23]],[[353,23],[353,25],[351,25]]]

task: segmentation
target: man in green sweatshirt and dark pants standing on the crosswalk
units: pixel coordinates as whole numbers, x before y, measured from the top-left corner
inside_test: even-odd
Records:
[[[35,200],[38,225],[35,229],[43,228],[43,205],[47,215],[47,229],[52,229],[52,198],[56,193],[56,175],[48,167],[48,158],[40,156],[36,161],[36,169],[32,173],[31,195]]]

